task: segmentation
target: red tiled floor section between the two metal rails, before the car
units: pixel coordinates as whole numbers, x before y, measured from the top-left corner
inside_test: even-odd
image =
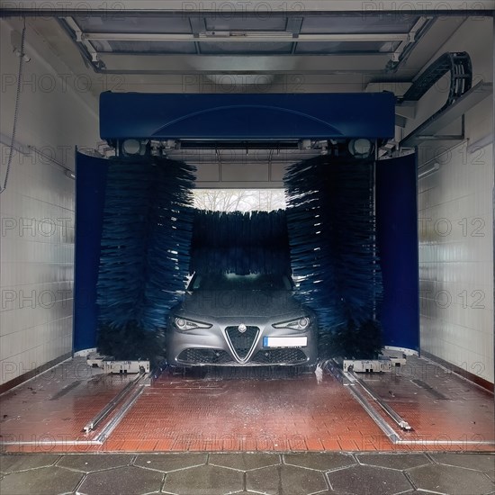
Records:
[[[116,428],[121,450],[362,450],[380,436],[359,404],[328,377],[203,381],[163,376]],[[140,443],[139,443],[140,442]]]

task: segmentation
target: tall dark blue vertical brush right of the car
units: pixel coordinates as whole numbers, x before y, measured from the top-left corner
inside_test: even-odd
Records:
[[[379,327],[383,292],[373,169],[372,160],[324,156],[284,176],[293,274],[319,315],[321,357],[369,354],[372,333],[372,354],[381,347],[380,332],[370,330]]]

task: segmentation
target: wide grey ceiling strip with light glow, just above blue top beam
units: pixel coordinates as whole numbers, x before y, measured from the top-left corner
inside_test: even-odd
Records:
[[[341,55],[149,55],[100,53],[101,72],[119,74],[376,74],[387,53]]]

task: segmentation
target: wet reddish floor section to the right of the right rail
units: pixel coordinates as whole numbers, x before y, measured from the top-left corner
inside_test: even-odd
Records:
[[[407,365],[392,374],[367,374],[364,382],[407,419],[412,429],[401,432],[404,441],[423,441],[437,448],[495,448],[493,394],[448,368],[410,356]]]

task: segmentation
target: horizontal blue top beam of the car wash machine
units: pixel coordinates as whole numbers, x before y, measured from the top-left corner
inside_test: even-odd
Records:
[[[100,95],[102,139],[390,139],[392,93]]]

